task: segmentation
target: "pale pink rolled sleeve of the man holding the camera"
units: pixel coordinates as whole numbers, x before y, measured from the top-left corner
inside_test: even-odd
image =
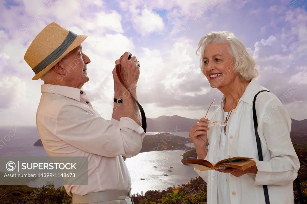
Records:
[[[57,117],[55,135],[78,149],[104,157],[137,155],[146,135],[143,128],[129,117],[121,117],[118,125],[116,121],[107,123],[83,105],[64,105]]]

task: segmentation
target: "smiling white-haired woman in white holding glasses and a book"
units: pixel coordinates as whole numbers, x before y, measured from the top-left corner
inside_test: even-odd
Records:
[[[267,89],[255,80],[255,61],[230,32],[205,35],[196,52],[200,52],[200,68],[211,87],[223,93],[210,122],[201,118],[190,129],[197,158],[216,163],[230,157],[251,157],[256,163],[245,171],[195,169],[207,183],[207,203],[264,204],[263,185],[267,185],[271,204],[293,204],[293,180],[300,163],[290,139],[291,118],[280,100],[266,91],[256,98],[263,154],[263,161],[259,161],[252,106],[254,96]]]

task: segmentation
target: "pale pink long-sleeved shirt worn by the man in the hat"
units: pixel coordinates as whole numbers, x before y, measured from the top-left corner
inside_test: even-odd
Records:
[[[88,185],[64,185],[68,195],[130,189],[130,174],[120,155],[129,158],[140,152],[143,128],[129,117],[107,123],[83,90],[41,85],[41,93],[36,123],[46,152],[88,160]]]

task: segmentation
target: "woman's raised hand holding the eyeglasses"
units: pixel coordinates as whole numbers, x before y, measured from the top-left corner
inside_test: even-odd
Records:
[[[204,159],[207,155],[206,143],[207,143],[207,130],[209,130],[207,118],[201,118],[190,129],[190,140],[194,143],[196,153],[199,159]]]

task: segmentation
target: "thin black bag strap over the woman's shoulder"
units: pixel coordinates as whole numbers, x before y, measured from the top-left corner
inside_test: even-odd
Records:
[[[263,92],[263,91],[267,91],[267,90],[259,91],[255,95],[254,100],[253,100],[253,118],[254,118],[254,127],[255,127],[255,134],[256,134],[256,142],[257,142],[259,161],[263,161],[263,156],[262,156],[262,148],[261,148],[260,138],[259,138],[259,134],[258,134],[258,121],[257,121],[257,115],[256,115],[255,101],[256,101],[257,95],[260,92]],[[267,92],[270,92],[270,91],[267,91]],[[303,199],[303,195],[302,195],[302,191],[301,191],[301,185],[300,185],[298,176],[295,179],[295,183],[296,183],[296,186],[297,186],[297,192],[298,192],[298,196],[300,198],[300,201],[301,201],[301,203],[304,203],[304,199]],[[269,192],[268,192],[267,185],[263,185],[263,191],[264,191],[264,198],[265,198],[266,204],[270,204]]]

